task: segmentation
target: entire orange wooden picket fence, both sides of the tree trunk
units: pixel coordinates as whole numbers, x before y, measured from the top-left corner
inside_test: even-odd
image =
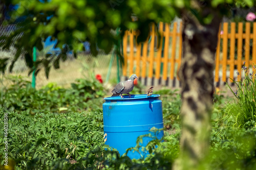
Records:
[[[158,29],[161,35],[160,44],[156,43],[158,37],[154,25],[150,37],[139,44],[136,44],[136,31],[125,32],[123,76],[136,74],[145,85],[161,82],[164,85],[177,86],[177,70],[182,59],[182,22],[160,22]],[[238,25],[234,22],[222,23],[216,51],[215,82],[229,82],[229,77],[239,80],[236,72],[241,74],[244,61],[247,67],[256,64],[256,22],[246,22],[245,25],[243,22]]]

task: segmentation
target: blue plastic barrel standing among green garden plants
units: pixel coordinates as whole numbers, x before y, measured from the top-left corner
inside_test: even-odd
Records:
[[[117,149],[120,155],[126,152],[126,149],[135,147],[138,136],[151,133],[158,139],[163,136],[163,131],[158,133],[150,132],[153,127],[163,128],[162,101],[158,94],[153,94],[146,98],[146,94],[113,96],[104,98],[103,104],[103,124],[104,133],[107,134],[105,144]],[[143,147],[151,141],[151,137],[143,137]],[[146,157],[148,153],[141,153]],[[138,152],[129,151],[127,153],[131,159],[141,158]]]

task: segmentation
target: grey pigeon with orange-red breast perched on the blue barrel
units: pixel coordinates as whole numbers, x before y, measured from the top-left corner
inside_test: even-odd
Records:
[[[117,96],[121,94],[121,98],[123,99],[122,94],[128,94],[129,98],[131,98],[132,95],[130,94],[130,92],[133,90],[134,87],[134,79],[138,79],[138,77],[136,75],[132,75],[129,80],[118,83],[116,87],[112,90],[112,96]]]

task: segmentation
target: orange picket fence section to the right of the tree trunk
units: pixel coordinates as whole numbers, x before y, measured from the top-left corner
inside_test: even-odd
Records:
[[[228,77],[231,79],[237,77],[236,71],[241,74],[243,62],[246,67],[256,64],[256,22],[246,22],[245,29],[243,22],[239,22],[237,26],[234,22],[230,24],[225,22],[222,27],[216,51],[216,82],[219,81],[219,77],[222,77],[222,82],[229,80]],[[220,71],[220,67],[222,67],[222,71]],[[227,72],[230,74],[227,75]],[[238,76],[237,80],[239,78]]]

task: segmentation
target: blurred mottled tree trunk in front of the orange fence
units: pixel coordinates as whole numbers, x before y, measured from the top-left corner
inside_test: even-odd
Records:
[[[179,70],[182,83],[182,132],[180,157],[174,169],[198,169],[209,150],[210,115],[214,93],[214,65],[221,17],[201,25],[194,17],[183,17],[183,58]],[[190,15],[191,16],[191,15]]]

